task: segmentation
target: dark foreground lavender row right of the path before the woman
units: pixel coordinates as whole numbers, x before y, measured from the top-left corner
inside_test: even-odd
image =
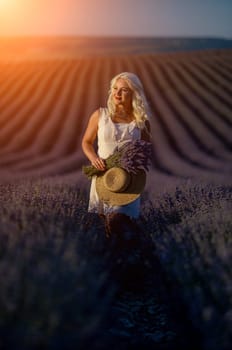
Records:
[[[143,225],[202,334],[203,349],[229,349],[232,337],[232,188],[186,183],[144,202]]]

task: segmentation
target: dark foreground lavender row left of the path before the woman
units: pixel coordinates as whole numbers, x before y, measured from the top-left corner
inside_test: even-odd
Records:
[[[85,196],[27,181],[0,186],[0,201],[0,347],[89,348],[113,286],[96,262],[101,225]]]

